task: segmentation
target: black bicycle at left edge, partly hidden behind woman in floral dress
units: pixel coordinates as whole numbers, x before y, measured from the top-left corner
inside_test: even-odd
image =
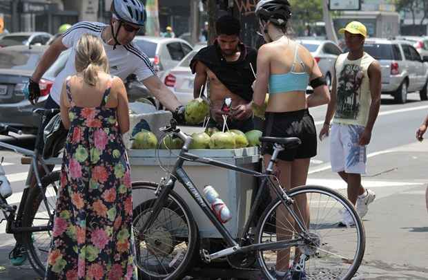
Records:
[[[34,112],[39,115],[56,114],[59,109],[35,109]],[[1,123],[0,131],[4,135],[9,132],[22,133],[19,129]],[[38,141],[42,139],[37,137],[36,142]],[[43,277],[52,238],[60,174],[59,171],[52,171],[52,163],[41,156],[38,146],[36,143],[36,149],[30,151],[0,142],[0,147],[21,154],[22,164],[30,165],[19,207],[9,205],[7,199],[0,194],[0,209],[7,222],[6,233],[14,234],[17,242],[25,246],[32,268]],[[57,149],[61,149],[60,145]],[[59,151],[54,153],[58,154]]]

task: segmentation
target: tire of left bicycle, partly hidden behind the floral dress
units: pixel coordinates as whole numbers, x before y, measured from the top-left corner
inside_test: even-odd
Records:
[[[49,200],[50,213],[54,214],[54,216],[57,197],[56,195],[58,192],[58,187],[60,185],[60,177],[60,171],[53,171],[52,173],[41,178],[41,185],[43,186],[43,190],[45,191],[45,193],[47,187],[50,187],[52,184],[57,183],[55,185],[56,187],[52,187],[52,190],[55,191],[55,196],[49,196],[49,198],[51,198]],[[52,192],[52,190],[49,190],[49,192]],[[28,193],[28,199],[24,207],[22,225],[24,227],[30,227],[34,223],[40,223],[39,221],[44,221],[48,219],[48,214],[46,214],[47,218],[44,217],[45,211],[43,210],[46,210],[45,208],[46,206],[43,203],[43,196],[41,196],[40,194],[40,189],[37,186],[33,186],[30,189],[30,192]],[[36,214],[39,214],[40,217],[36,216]],[[50,223],[51,225],[53,225],[53,221],[50,221]],[[50,239],[52,238],[52,234],[50,231],[37,232],[37,235],[39,234],[47,234],[46,237],[48,237],[48,239],[46,240],[46,243],[41,243],[41,245],[35,244],[35,238],[33,236],[33,233],[30,232],[23,233],[23,243],[27,248],[28,259],[30,260],[32,268],[37,272],[37,274],[40,275],[40,277],[44,277],[46,271],[46,261],[48,259],[48,254],[50,250]]]

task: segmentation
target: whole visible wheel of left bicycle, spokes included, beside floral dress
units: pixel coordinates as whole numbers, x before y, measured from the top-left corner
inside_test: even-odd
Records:
[[[50,214],[55,216],[57,203],[57,193],[60,186],[60,171],[54,171],[41,179],[43,192],[48,201],[48,209],[43,202],[43,194],[39,187],[33,186],[30,189],[23,214],[23,227],[47,226],[50,230],[43,232],[26,232],[23,234],[23,243],[26,245],[28,256],[32,268],[41,277],[46,271],[46,261],[50,250],[50,240],[52,239],[53,221]]]

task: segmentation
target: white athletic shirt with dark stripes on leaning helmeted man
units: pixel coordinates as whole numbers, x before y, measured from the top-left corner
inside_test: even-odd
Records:
[[[70,29],[68,29],[62,39],[62,44],[67,48],[72,48],[71,53],[68,56],[66,66],[59,72],[55,77],[54,84],[50,89],[50,97],[59,104],[59,97],[61,96],[61,88],[66,77],[75,75],[75,55],[76,45],[79,38],[85,33],[101,37],[101,31],[106,27],[106,24],[99,22],[82,21]],[[147,55],[142,52],[136,46],[135,43],[131,42],[126,46],[116,46],[113,50],[113,46],[104,43],[104,49],[108,57],[108,63],[110,64],[110,74],[120,77],[121,80],[125,80],[130,74],[135,74],[139,81],[146,80],[148,77],[155,75],[153,65],[148,59]]]

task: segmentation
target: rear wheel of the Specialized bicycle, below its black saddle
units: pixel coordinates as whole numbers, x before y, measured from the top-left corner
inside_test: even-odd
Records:
[[[289,240],[297,245],[257,252],[266,278],[276,279],[275,270],[285,272],[294,262],[307,279],[351,279],[365,249],[364,227],[353,205],[327,187],[296,187],[289,196],[304,232],[279,198],[269,205],[257,226],[257,243]]]

